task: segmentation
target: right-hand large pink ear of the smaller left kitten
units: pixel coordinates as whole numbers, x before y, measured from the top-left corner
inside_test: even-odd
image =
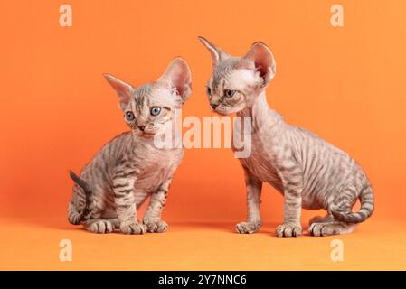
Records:
[[[185,102],[192,92],[192,76],[186,61],[176,57],[166,68],[165,73],[157,80],[172,89],[176,89],[182,102]]]

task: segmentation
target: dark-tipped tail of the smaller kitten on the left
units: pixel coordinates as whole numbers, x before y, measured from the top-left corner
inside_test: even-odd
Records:
[[[80,188],[84,191],[86,198],[85,208],[82,211],[78,211],[76,207],[71,210],[74,216],[69,216],[69,220],[72,224],[77,225],[81,221],[90,218],[91,211],[93,210],[93,193],[90,189],[90,185],[87,182],[81,179],[74,172],[70,171],[69,174],[71,176],[72,181],[78,184]],[[70,203],[70,209],[71,206],[74,206],[72,202]]]

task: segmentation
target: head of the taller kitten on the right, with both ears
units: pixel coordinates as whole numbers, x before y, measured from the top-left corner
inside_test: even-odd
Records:
[[[267,45],[255,42],[245,56],[232,57],[203,37],[199,40],[212,55],[213,73],[206,86],[212,110],[231,115],[250,107],[275,76],[275,60]]]

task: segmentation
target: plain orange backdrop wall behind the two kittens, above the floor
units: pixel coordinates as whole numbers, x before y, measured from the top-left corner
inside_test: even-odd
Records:
[[[69,28],[59,25],[65,3]],[[406,2],[340,1],[343,28],[329,23],[335,3],[0,1],[0,217],[63,219],[66,227],[68,170],[80,172],[127,129],[104,72],[138,86],[182,56],[194,85],[184,117],[211,116],[211,58],[196,38],[203,35],[232,55],[267,43],[277,62],[270,107],[362,164],[376,194],[373,219],[405,221]],[[282,197],[266,185],[262,199],[262,219],[279,223]],[[245,213],[231,150],[187,150],[164,219],[233,223]],[[304,221],[315,214],[304,212]]]

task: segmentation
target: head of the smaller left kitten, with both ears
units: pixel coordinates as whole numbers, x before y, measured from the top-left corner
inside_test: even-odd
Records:
[[[190,70],[182,58],[171,61],[156,82],[139,88],[109,74],[104,76],[117,92],[127,126],[146,138],[164,132],[192,92]]]

